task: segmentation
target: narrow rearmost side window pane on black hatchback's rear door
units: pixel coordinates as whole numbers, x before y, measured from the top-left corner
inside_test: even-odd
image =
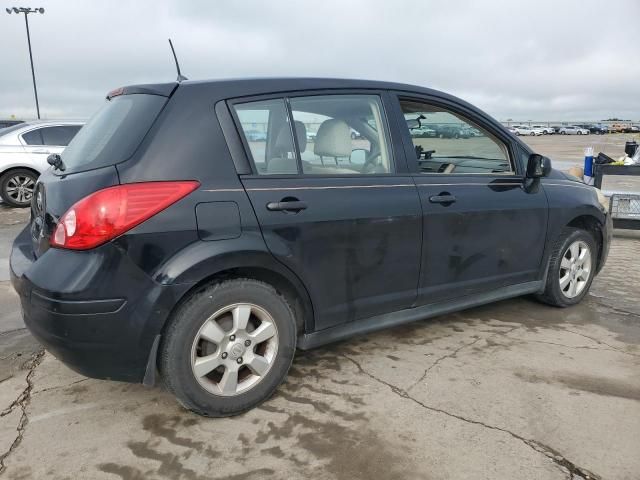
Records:
[[[260,175],[298,173],[287,108],[281,98],[234,105]]]

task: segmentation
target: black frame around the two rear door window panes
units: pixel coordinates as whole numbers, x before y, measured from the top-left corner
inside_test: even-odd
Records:
[[[379,105],[381,108],[381,113],[385,122],[385,126],[387,128],[387,134],[385,135],[385,140],[387,141],[387,151],[389,157],[391,159],[391,164],[393,167],[393,172],[389,173],[376,173],[376,174],[366,174],[366,173],[353,173],[353,174],[319,174],[312,175],[308,173],[302,172],[302,159],[300,154],[300,148],[298,146],[298,140],[296,134],[294,132],[294,123],[293,123],[293,112],[291,111],[291,106],[289,103],[290,99],[299,98],[299,97],[316,97],[316,96],[342,96],[342,95],[368,95],[368,96],[376,96],[378,97]],[[289,128],[291,130],[291,135],[294,142],[294,149],[297,159],[297,167],[298,173],[276,173],[264,175],[258,173],[255,162],[253,159],[253,155],[251,153],[251,149],[247,143],[246,137],[244,135],[244,130],[242,129],[242,125],[240,123],[240,119],[238,118],[234,106],[237,104],[250,103],[250,102],[259,102],[264,100],[273,100],[273,99],[283,99],[287,106],[287,121],[289,123]],[[245,97],[235,97],[229,98],[226,100],[226,104],[228,107],[229,114],[235,126],[236,133],[238,138],[243,146],[243,153],[245,159],[243,163],[247,163],[251,169],[251,173],[243,174],[239,172],[242,178],[317,178],[317,179],[331,179],[331,178],[380,178],[380,177],[397,177],[397,176],[406,176],[411,174],[411,171],[407,168],[406,159],[404,159],[404,148],[402,145],[401,138],[396,137],[396,129],[395,125],[392,124],[394,116],[393,108],[392,108],[392,99],[389,97],[389,90],[381,90],[379,88],[335,88],[335,89],[321,89],[321,90],[294,90],[294,91],[286,91],[286,92],[273,92],[268,94],[261,95],[251,95]],[[396,145],[396,142],[399,141],[399,147]],[[402,163],[401,163],[402,162]],[[403,168],[404,167],[404,168]]]

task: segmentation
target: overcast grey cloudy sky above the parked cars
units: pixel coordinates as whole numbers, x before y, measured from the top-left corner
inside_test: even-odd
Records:
[[[89,116],[111,89],[175,79],[413,83],[506,120],[640,120],[638,0],[0,1],[0,118]]]

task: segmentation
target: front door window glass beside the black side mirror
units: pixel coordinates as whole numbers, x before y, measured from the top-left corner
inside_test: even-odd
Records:
[[[514,173],[507,146],[480,126],[425,102],[400,104],[421,173]]]

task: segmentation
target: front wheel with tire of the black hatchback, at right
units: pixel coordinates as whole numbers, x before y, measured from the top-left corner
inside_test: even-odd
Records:
[[[538,300],[555,307],[579,303],[589,292],[596,271],[598,246],[585,230],[565,228],[549,258],[547,282]]]

